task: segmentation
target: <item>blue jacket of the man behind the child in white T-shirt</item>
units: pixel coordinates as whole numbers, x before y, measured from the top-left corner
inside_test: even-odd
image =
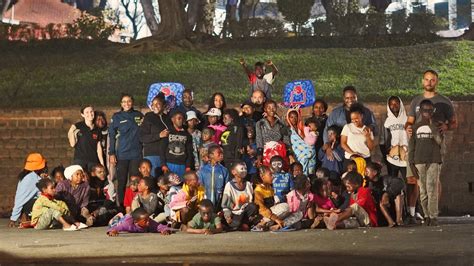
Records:
[[[363,120],[364,120],[364,125],[370,127],[370,129],[374,133],[374,136],[377,136],[378,127],[377,127],[377,121],[375,120],[374,113],[372,113],[372,111],[370,111],[369,108],[365,106],[364,106]],[[324,133],[323,133],[324,143],[328,142],[328,128],[330,126],[336,125],[340,127],[342,130],[342,128],[346,124],[347,124],[347,118],[346,118],[344,105],[340,105],[334,108],[326,121],[326,127],[324,128]]]

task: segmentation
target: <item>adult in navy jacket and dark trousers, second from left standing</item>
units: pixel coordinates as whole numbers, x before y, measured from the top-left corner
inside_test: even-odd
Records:
[[[121,110],[112,116],[109,128],[109,160],[117,170],[117,203],[123,205],[125,187],[129,176],[138,175],[138,164],[142,157],[139,126],[143,114],[133,109],[133,97],[122,94]]]

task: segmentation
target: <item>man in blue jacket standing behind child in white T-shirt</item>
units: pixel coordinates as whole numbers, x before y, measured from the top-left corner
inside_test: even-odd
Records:
[[[328,128],[336,125],[343,128],[346,124],[351,123],[350,108],[353,104],[358,102],[357,90],[354,86],[347,86],[342,90],[344,103],[334,108],[326,121],[326,127],[324,128],[323,141],[324,145],[322,150],[326,152],[326,156],[330,161],[334,160],[331,145],[328,140]],[[377,122],[375,116],[371,110],[367,107],[362,106],[362,124],[367,126],[374,136],[378,133]]]

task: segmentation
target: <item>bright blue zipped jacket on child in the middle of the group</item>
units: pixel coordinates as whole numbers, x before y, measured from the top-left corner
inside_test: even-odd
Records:
[[[229,171],[222,164],[212,166],[205,164],[198,171],[199,183],[206,189],[206,199],[212,201],[214,207],[221,206],[225,184],[229,181]]]

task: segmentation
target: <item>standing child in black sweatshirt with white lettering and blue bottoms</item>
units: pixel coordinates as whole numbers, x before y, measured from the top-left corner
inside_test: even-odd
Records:
[[[173,172],[182,177],[194,167],[193,139],[184,130],[184,114],[175,111],[171,115],[172,127],[164,139],[164,149],[160,150],[161,169],[164,173]]]

